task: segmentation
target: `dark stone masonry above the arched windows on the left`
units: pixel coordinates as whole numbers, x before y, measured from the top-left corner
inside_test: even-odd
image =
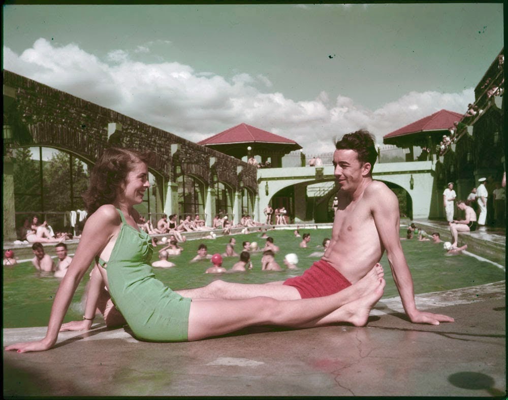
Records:
[[[258,190],[257,170],[246,162],[10,71],[4,70],[3,77],[4,86],[13,88],[16,95],[14,104],[4,109],[4,120],[15,127],[15,135],[29,134],[33,146],[67,151],[88,163],[94,163],[112,145],[150,150],[155,153],[154,163],[150,165],[152,172],[174,181],[172,166],[176,161],[183,173],[207,184],[211,179],[209,160],[215,157],[219,180],[237,189],[237,167],[242,166],[243,184],[255,192]],[[108,134],[109,123],[119,127],[113,135]],[[172,144],[180,145],[177,160],[173,160]]]

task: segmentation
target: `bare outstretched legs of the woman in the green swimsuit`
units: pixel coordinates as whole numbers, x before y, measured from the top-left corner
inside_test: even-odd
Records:
[[[326,297],[278,301],[270,297],[212,300],[190,305],[188,340],[224,335],[251,325],[309,328],[336,322],[357,326],[367,323],[369,312],[383,295],[385,280],[379,279],[368,294],[338,308],[340,292]]]

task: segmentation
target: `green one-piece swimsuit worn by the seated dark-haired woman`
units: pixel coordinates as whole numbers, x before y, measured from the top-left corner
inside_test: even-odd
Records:
[[[113,303],[136,338],[150,342],[186,341],[191,299],[155,278],[149,265],[153,253],[150,236],[133,228],[118,212],[122,226],[109,261],[99,259],[106,268]]]

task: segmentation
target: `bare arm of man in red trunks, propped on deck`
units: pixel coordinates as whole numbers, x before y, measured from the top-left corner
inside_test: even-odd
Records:
[[[365,194],[367,194],[370,201],[374,223],[379,238],[386,249],[393,279],[397,285],[402,306],[407,316],[414,323],[439,325],[440,321],[453,322],[454,319],[446,315],[422,312],[416,308],[411,272],[399,240],[399,204],[397,197],[383,184],[372,186],[371,184],[366,189]]]

